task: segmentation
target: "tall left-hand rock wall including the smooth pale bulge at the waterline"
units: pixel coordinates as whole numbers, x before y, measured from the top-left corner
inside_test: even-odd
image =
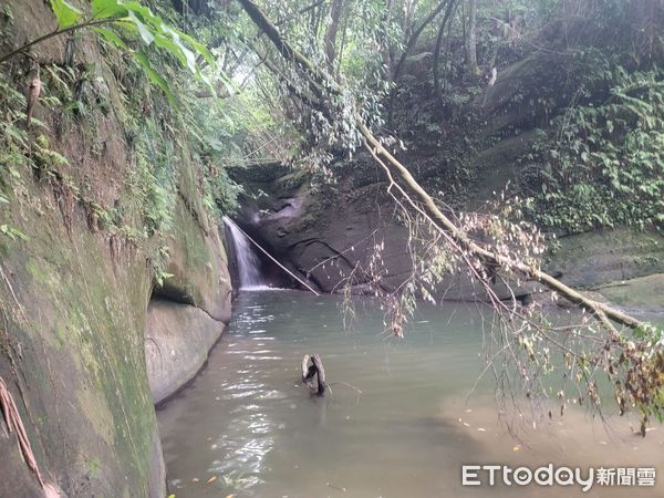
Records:
[[[41,0],[4,9],[0,53],[54,29]],[[68,51],[65,37],[35,46],[43,89],[34,115],[43,125],[33,122],[30,146],[0,138],[0,377],[44,481],[62,495],[164,497],[154,401],[199,369],[228,320],[226,256],[186,147],[172,158],[179,175],[170,227],[146,231],[144,196],[129,181],[135,136],[118,66],[90,33],[76,37],[65,63]],[[3,108],[25,89],[25,63],[0,68]],[[86,114],[53,100],[59,68],[96,95]],[[131,92],[145,92],[149,106],[147,87]],[[13,125],[24,129],[21,120]],[[174,276],[163,289],[159,273]],[[3,417],[0,454],[0,496],[43,496]]]

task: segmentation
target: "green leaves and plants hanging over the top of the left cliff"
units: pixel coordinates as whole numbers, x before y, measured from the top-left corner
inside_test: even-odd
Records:
[[[51,7],[59,23],[55,33],[94,30],[104,42],[105,60],[84,66],[41,64],[39,105],[53,111],[59,137],[77,132],[85,146],[100,157],[106,141],[98,131],[107,126],[108,114],[115,114],[124,123],[125,139],[133,158],[125,177],[128,196],[118,199],[115,207],[104,207],[83,196],[77,181],[64,173],[71,167],[66,158],[49,145],[45,136],[29,138],[22,126],[24,95],[15,91],[9,80],[1,79],[0,104],[6,117],[0,121],[3,169],[19,175],[25,166],[38,178],[52,178],[56,184],[64,181],[64,188],[71,190],[74,200],[86,209],[91,228],[111,229],[136,243],[172,227],[180,164],[189,162],[191,156],[200,163],[190,166],[206,173],[201,186],[204,205],[212,216],[217,216],[219,209],[225,212],[235,209],[240,187],[224,169],[228,152],[232,149],[229,144],[234,121],[225,115],[216,98],[212,100],[215,105],[209,106],[209,101],[189,95],[191,74],[212,95],[216,92],[208,82],[227,83],[228,80],[215,71],[215,58],[204,44],[175,28],[174,23],[164,21],[181,21],[181,18],[174,15],[170,9],[157,15],[137,1],[126,0],[92,0],[90,9],[52,0]],[[136,66],[125,66],[124,54],[127,53],[132,54]],[[201,65],[200,61],[207,65]],[[174,71],[174,65],[178,64],[188,70],[188,77]],[[121,84],[120,93],[108,65]],[[163,91],[168,102],[158,92],[149,91],[144,76]],[[176,94],[177,107],[174,105]],[[33,120],[33,124],[42,125],[39,120]],[[211,160],[217,165],[214,168],[207,167]],[[2,183],[0,199],[10,201],[14,188]],[[3,200],[0,205],[7,204]],[[138,230],[125,225],[126,217],[133,212],[142,215],[143,226]],[[15,236],[10,228],[3,226],[0,234]]]

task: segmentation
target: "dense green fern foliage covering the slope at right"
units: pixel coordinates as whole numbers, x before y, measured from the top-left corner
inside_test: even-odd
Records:
[[[609,98],[569,107],[526,159],[540,225],[664,227],[664,73],[602,73]]]

